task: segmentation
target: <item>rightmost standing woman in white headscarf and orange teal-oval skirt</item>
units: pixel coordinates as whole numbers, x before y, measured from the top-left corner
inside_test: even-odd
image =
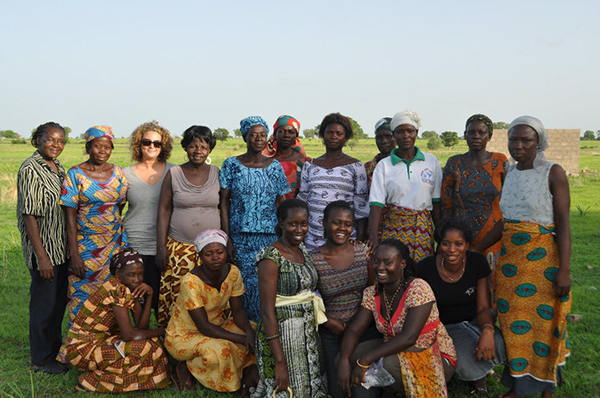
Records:
[[[513,120],[508,150],[517,161],[502,187],[504,217],[497,308],[509,366],[505,396],[551,397],[570,351],[571,227],[569,182],[546,160],[548,136],[532,116]],[[510,374],[510,377],[509,377]]]

